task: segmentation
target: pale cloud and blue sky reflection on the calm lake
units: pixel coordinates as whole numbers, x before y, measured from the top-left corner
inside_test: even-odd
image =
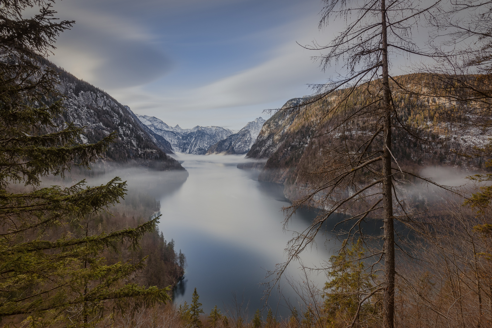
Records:
[[[178,159],[189,172],[186,181],[160,199],[159,229],[166,239],[176,241],[176,249],[186,255],[185,278],[175,291],[175,302],[190,302],[194,288],[205,312],[217,305],[223,308],[231,293],[249,300],[249,312],[262,307],[261,282],[267,271],[285,261],[284,248],[292,238],[282,230],[281,208],[288,206],[283,188],[257,181],[257,172],[236,167],[245,161],[236,155],[184,155]],[[301,231],[316,215],[299,211],[288,229]],[[330,257],[321,237],[317,247],[303,254],[307,266],[319,266]],[[298,264],[288,275],[299,278]],[[324,274],[312,279],[322,284]],[[289,286],[280,286],[286,297],[295,298]],[[320,285],[321,286],[321,285]],[[270,305],[277,307],[277,299]],[[281,305],[281,302],[280,302]],[[288,314],[279,307],[278,315]]]

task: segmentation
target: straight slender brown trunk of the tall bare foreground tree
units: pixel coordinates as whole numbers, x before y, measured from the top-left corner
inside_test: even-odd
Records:
[[[395,317],[395,235],[393,228],[393,193],[391,177],[391,90],[388,71],[386,1],[381,0],[381,45],[383,57],[383,228],[384,279],[383,327],[393,328]]]

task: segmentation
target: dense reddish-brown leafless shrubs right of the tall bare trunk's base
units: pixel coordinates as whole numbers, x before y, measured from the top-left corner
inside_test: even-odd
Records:
[[[492,240],[477,229],[489,222],[450,201],[413,223],[415,261],[398,271],[400,327],[491,327]]]

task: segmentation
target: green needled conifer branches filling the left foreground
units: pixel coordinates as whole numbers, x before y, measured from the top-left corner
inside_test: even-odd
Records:
[[[91,218],[125,195],[124,181],[39,187],[43,176],[63,176],[70,165],[87,168],[116,138],[112,133],[84,144],[82,128],[55,123],[62,95],[57,73],[42,56],[74,22],[56,20],[52,3],[3,0],[0,6],[0,323],[95,327],[128,308],[169,300],[169,288],[128,283],[145,259],[107,265],[102,256],[119,244],[139,247],[157,218],[136,228],[90,233]],[[39,14],[24,18],[32,7]],[[73,227],[83,233],[70,233]]]

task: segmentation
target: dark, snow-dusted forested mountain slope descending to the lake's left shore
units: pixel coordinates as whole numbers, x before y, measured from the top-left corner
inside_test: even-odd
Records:
[[[43,64],[56,67],[47,60]],[[128,106],[61,68],[56,69],[60,73],[57,88],[65,97],[65,112],[59,123],[73,122],[84,127],[82,143],[99,141],[117,131],[116,142],[110,145],[103,158],[105,162],[184,170],[177,160],[166,154],[173,153],[169,142],[142,124]]]

